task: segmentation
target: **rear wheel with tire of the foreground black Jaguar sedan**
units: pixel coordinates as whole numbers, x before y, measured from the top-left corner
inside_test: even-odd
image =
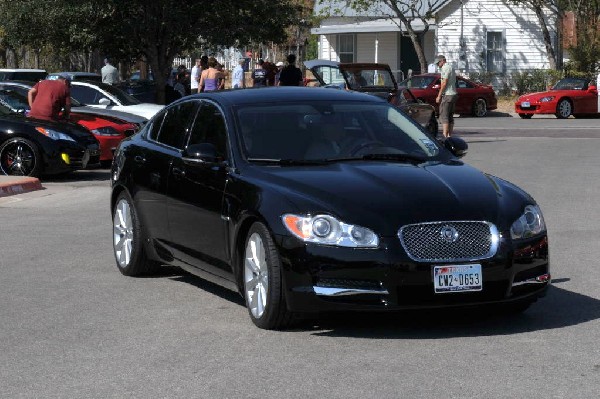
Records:
[[[126,191],[119,194],[113,209],[113,250],[117,267],[125,276],[153,274],[160,266],[146,256],[137,211]]]

